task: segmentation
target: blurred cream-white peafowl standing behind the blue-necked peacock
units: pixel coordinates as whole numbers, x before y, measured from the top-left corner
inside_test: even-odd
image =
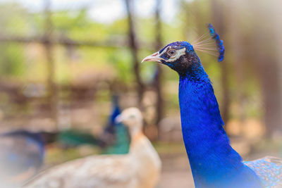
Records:
[[[128,127],[131,142],[127,154],[88,156],[43,171],[24,187],[52,188],[153,188],[161,161],[149,139],[142,133],[142,114],[128,108],[117,117]]]

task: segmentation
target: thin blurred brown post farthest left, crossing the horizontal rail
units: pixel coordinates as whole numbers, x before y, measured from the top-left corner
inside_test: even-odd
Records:
[[[51,0],[44,0],[44,14],[45,14],[45,35],[44,35],[44,46],[47,58],[47,88],[49,94],[49,105],[51,118],[56,123],[58,129],[58,90],[55,82],[55,65],[53,58],[53,46],[52,46],[52,35],[53,25],[51,21]]]

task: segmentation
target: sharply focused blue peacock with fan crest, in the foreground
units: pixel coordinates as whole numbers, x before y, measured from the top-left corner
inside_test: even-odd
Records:
[[[212,24],[208,27],[209,35],[216,41],[218,61],[222,61],[223,41]],[[280,158],[266,156],[243,161],[231,147],[212,82],[195,52],[212,49],[208,47],[210,43],[202,44],[205,42],[173,42],[143,59],[167,65],[179,75],[181,126],[195,187],[282,187]]]

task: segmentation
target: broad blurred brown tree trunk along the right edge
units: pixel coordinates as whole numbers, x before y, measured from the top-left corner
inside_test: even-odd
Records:
[[[281,10],[278,1],[270,1],[267,6],[264,1],[254,1],[257,9],[253,17],[259,20],[252,21],[254,31],[252,34],[252,56],[255,60],[255,68],[262,86],[264,100],[264,121],[266,125],[266,137],[272,138],[276,134],[282,134],[282,87],[281,87]],[[267,16],[260,16],[267,15]],[[262,27],[262,23],[264,23]],[[278,26],[279,25],[279,26]],[[278,26],[278,27],[277,27]],[[259,29],[258,29],[259,28]]]

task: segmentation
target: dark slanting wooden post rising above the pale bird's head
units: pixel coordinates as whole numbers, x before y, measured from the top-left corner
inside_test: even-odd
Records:
[[[135,28],[133,23],[133,0],[125,0],[126,11],[128,14],[128,39],[130,50],[133,56],[133,73],[135,76],[135,81],[137,83],[137,95],[138,95],[138,105],[142,107],[142,98],[145,91],[145,86],[142,83],[140,76],[140,61],[137,58],[137,42],[135,37]]]

